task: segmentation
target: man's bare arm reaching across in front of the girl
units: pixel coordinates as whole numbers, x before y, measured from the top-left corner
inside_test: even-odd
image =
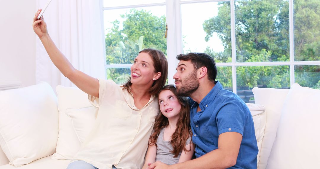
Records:
[[[221,133],[218,138],[218,149],[215,149],[199,158],[189,160],[183,163],[174,165],[163,165],[161,163],[154,163],[148,169],[193,169],[193,168],[228,168],[236,165],[239,154],[242,135],[236,132]]]

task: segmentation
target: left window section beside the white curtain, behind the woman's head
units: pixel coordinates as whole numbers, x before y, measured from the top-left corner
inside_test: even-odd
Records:
[[[104,0],[102,9],[107,79],[125,83],[134,58],[144,48],[166,54],[165,0]]]

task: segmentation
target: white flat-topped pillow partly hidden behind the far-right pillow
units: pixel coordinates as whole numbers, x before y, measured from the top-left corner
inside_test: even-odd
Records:
[[[267,166],[270,151],[276,138],[281,110],[289,89],[258,88],[252,89],[256,104],[263,105],[266,111],[266,127],[260,149],[258,169]]]

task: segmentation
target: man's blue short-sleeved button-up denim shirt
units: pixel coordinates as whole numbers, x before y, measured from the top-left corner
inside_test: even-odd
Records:
[[[190,100],[192,141],[196,157],[218,149],[221,133],[237,132],[242,135],[236,165],[230,168],[257,168],[258,146],[252,115],[244,101],[235,93],[222,88],[219,81],[200,102]]]

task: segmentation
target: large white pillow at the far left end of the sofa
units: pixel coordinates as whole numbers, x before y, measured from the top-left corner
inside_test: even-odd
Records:
[[[58,117],[57,98],[45,82],[0,92],[0,145],[9,164],[19,167],[52,155]]]

